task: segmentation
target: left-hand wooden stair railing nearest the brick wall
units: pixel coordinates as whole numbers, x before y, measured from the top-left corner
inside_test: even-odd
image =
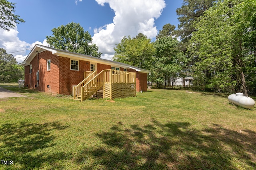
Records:
[[[86,78],[78,85],[76,85],[73,89],[74,100],[80,100],[80,96],[82,94],[81,87],[88,83],[90,80],[92,80],[92,78],[96,76],[97,71],[84,72],[84,74],[86,74]]]

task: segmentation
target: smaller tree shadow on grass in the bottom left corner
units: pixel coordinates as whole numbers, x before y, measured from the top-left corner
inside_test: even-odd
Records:
[[[0,160],[12,160],[13,165],[0,165],[0,169],[34,169],[42,164],[51,164],[51,168],[62,168],[52,165],[56,160],[64,160],[64,152],[44,153],[43,150],[53,147],[52,130],[66,129],[58,122],[53,123],[6,123],[0,125]],[[41,150],[41,151],[38,151]],[[40,154],[38,154],[40,153]]]

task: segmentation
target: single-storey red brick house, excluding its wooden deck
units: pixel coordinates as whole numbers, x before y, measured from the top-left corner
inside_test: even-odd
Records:
[[[25,87],[71,95],[86,72],[118,70],[136,73],[136,92],[147,91],[148,70],[89,55],[35,45],[21,65],[25,70]],[[112,71],[113,72],[113,71]]]

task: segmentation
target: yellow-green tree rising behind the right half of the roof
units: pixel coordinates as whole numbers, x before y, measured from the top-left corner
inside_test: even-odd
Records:
[[[115,55],[113,61],[118,61],[139,68],[149,69],[152,66],[154,45],[151,40],[142,33],[135,38],[124,37],[121,43],[114,48]]]

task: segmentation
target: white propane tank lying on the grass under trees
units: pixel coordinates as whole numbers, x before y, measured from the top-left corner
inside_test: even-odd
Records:
[[[230,94],[228,96],[228,101],[232,104],[250,109],[255,105],[255,101],[248,96],[244,96],[243,93]]]

